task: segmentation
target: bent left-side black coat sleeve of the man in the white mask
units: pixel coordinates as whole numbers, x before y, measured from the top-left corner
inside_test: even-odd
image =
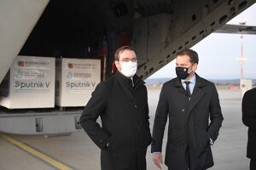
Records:
[[[101,149],[105,149],[108,144],[109,134],[105,132],[97,118],[102,114],[107,105],[108,89],[104,82],[97,85],[95,91],[80,117],[80,124],[84,131],[89,135],[90,139]]]

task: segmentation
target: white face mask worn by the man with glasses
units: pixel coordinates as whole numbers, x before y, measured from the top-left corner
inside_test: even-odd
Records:
[[[120,72],[125,77],[133,77],[137,71],[137,62],[121,62],[121,69]]]

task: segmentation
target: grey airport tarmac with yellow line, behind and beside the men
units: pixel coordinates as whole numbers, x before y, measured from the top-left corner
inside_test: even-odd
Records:
[[[148,88],[151,130],[159,94],[159,87]],[[247,127],[241,122],[241,92],[218,88],[218,94],[224,122],[212,146],[214,166],[210,170],[248,170]],[[163,150],[166,148],[166,133]],[[147,167],[148,170],[158,169],[153,164],[150,147]],[[0,170],[16,169],[98,170],[101,169],[100,150],[84,131],[55,136],[0,133]],[[167,170],[167,167],[163,165],[162,169]]]

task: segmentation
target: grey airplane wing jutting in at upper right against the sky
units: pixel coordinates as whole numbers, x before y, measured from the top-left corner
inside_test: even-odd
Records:
[[[215,31],[215,33],[256,34],[256,26],[226,24]]]

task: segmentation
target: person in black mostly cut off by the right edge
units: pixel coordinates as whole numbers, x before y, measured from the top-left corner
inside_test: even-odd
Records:
[[[256,88],[248,90],[242,98],[242,122],[248,128],[247,157],[250,169],[256,169]]]

